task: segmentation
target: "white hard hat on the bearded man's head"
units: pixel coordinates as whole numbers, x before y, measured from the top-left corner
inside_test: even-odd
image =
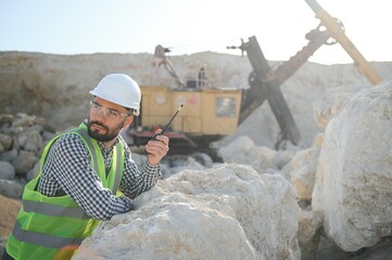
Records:
[[[139,116],[140,88],[128,75],[110,74],[90,93],[124,107],[132,108],[134,116]]]

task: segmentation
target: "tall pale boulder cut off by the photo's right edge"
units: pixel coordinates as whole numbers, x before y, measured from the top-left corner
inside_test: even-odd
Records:
[[[315,211],[345,251],[392,235],[392,79],[352,98],[326,128]]]

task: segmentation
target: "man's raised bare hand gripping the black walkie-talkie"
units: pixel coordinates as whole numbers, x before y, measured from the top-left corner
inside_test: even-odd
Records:
[[[162,134],[159,134],[162,130],[156,131],[155,140],[150,140],[146,145],[146,151],[149,154],[148,160],[150,165],[160,164],[161,159],[168,152],[168,138]]]

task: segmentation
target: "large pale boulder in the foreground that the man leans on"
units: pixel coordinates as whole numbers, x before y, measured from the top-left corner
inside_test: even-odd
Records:
[[[279,174],[181,171],[101,223],[74,259],[300,259],[299,207]]]

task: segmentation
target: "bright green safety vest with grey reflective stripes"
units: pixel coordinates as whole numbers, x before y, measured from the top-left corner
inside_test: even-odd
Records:
[[[91,167],[103,186],[116,195],[124,170],[123,142],[119,141],[113,148],[112,167],[106,176],[102,153],[98,142],[88,135],[87,126],[81,123],[65,134],[78,134],[81,138],[90,154]],[[5,246],[7,252],[14,259],[71,259],[83,239],[90,236],[99,223],[68,195],[48,197],[36,191],[49,151],[62,135],[47,144],[40,159],[39,174],[25,186],[22,208]]]

